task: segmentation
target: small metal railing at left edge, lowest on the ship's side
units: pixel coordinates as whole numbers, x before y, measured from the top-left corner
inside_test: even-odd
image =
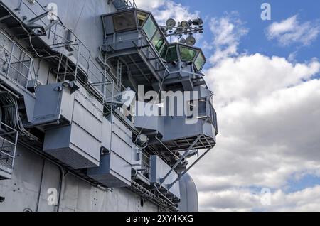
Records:
[[[0,122],[0,171],[12,173],[17,142],[18,131]]]

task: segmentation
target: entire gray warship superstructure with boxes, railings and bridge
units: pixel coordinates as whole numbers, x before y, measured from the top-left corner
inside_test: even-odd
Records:
[[[134,1],[0,1],[0,211],[197,211],[188,171],[218,134],[205,63]],[[164,91],[183,103],[163,112],[197,114],[137,113]]]

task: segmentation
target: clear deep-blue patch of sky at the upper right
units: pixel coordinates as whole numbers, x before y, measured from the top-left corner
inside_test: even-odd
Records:
[[[265,29],[274,21],[282,21],[296,14],[299,15],[301,21],[316,21],[319,20],[320,1],[305,0],[177,0],[190,9],[200,11],[203,18],[212,18],[224,16],[226,12],[237,11],[239,18],[245,23],[249,29],[249,35],[242,39],[240,49],[248,50],[249,53],[262,53],[264,55],[278,55],[288,57],[290,53],[298,51],[297,60],[304,61],[310,58],[320,58],[320,41],[319,38],[311,46],[302,47],[299,44],[290,45],[288,47],[279,47],[277,43],[267,40]],[[262,10],[260,6],[267,2],[272,6],[272,20],[262,21],[260,14]],[[209,22],[209,21],[207,21]],[[209,24],[206,23],[205,39],[212,38],[209,31]]]

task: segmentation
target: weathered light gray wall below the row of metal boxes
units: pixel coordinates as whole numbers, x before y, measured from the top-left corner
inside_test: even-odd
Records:
[[[55,205],[48,205],[49,188],[56,188],[59,193],[60,169],[41,156],[18,146],[18,157],[12,180],[0,181],[0,212],[57,211]],[[43,165],[44,163],[44,165]],[[43,167],[44,166],[44,167]],[[42,178],[42,183],[41,183]],[[40,194],[40,199],[38,196]],[[60,195],[59,211],[63,212],[148,212],[157,211],[156,205],[144,202],[141,206],[139,195],[127,188],[101,190],[71,174],[65,175]]]

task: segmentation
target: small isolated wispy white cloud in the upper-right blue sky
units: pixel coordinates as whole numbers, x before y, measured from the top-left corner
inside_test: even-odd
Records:
[[[300,22],[297,15],[281,22],[274,22],[267,28],[267,38],[277,40],[280,45],[299,43],[310,45],[320,33],[318,21]]]

